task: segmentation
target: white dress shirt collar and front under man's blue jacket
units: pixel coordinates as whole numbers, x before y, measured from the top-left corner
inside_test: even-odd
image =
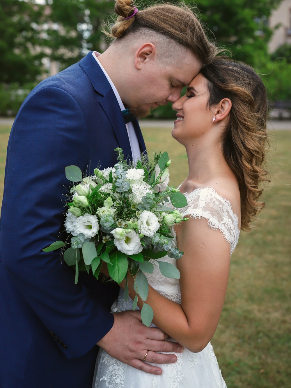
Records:
[[[110,86],[112,87],[112,90],[113,90],[113,92],[115,94],[117,102],[118,102],[118,104],[120,106],[120,109],[121,109],[121,111],[123,111],[125,109],[125,106],[123,105],[123,102],[121,101],[120,95],[117,92],[117,89],[115,88],[114,83],[111,81],[110,77],[108,76],[106,70],[103,68],[103,66],[100,63],[100,61],[98,61],[98,58],[95,55],[95,53],[97,55],[100,55],[100,53],[98,53],[97,51],[93,51],[92,55],[96,59],[96,62],[98,63],[98,65],[100,66],[101,70],[103,71],[105,77],[107,78],[108,82],[110,83]],[[131,121],[126,124],[126,130],[127,130],[127,135],[128,135],[128,139],[129,139],[129,144],[130,144],[130,147],[131,147],[131,153],[132,153],[132,156],[133,156],[133,162],[134,162],[134,165],[136,165],[137,161],[139,159],[141,159],[141,156],[140,156],[140,149],[139,149],[138,138],[136,137],[136,133],[135,133],[135,130],[134,130],[134,127],[133,127],[133,123]]]

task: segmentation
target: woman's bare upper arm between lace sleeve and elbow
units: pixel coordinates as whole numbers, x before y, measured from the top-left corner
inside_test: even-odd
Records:
[[[230,244],[205,219],[190,218],[176,231],[177,245],[184,251],[177,261],[182,308],[189,327],[210,341],[226,295]]]

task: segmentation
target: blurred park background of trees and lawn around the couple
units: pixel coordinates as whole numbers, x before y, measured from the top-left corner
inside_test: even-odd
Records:
[[[226,301],[212,344],[228,388],[288,388],[291,0],[185,3],[196,7],[209,38],[261,74],[270,102],[271,183],[264,191],[266,207],[258,226],[251,233],[241,232],[231,257]],[[140,9],[149,4],[136,2]],[[79,61],[89,50],[106,49],[102,29],[112,23],[113,7],[114,2],[102,0],[1,0],[0,205],[7,142],[22,101],[42,79]],[[170,106],[160,107],[150,120],[141,120],[141,128],[149,153],[169,152],[171,184],[178,185],[187,176],[188,163],[184,148],[170,134],[174,116]]]

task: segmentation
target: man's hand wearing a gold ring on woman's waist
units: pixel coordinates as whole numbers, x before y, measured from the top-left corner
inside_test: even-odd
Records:
[[[162,330],[146,327],[141,323],[140,311],[127,310],[114,314],[114,324],[97,345],[110,356],[143,372],[162,374],[156,366],[144,362],[168,364],[177,361],[174,354],[156,352],[182,352],[183,346],[176,342],[164,341],[167,338]]]

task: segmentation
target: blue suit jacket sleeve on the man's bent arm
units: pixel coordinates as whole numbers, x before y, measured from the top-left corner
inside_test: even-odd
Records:
[[[61,263],[59,251],[42,251],[64,230],[64,168],[86,169],[88,141],[74,98],[45,87],[22,105],[7,150],[2,260],[48,331],[67,345],[60,346],[67,358],[88,352],[113,324],[112,314],[74,284],[74,271]]]

